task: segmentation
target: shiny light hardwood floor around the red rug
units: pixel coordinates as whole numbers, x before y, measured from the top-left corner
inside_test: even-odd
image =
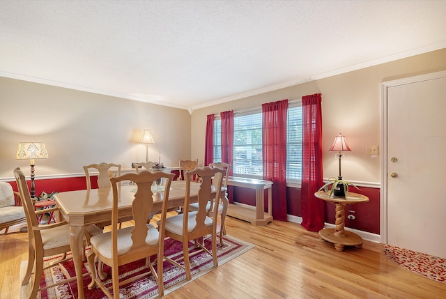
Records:
[[[380,244],[337,252],[292,222],[227,217],[226,231],[255,247],[164,298],[446,298],[446,284],[397,266]],[[0,249],[0,298],[19,298],[27,234],[1,234]]]

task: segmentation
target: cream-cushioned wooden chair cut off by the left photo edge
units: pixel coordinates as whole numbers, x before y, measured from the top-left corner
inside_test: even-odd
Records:
[[[25,211],[22,207],[19,192],[13,190],[10,183],[0,182],[0,231],[26,222]]]

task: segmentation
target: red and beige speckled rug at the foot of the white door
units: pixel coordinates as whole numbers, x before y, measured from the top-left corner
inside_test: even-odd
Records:
[[[392,245],[385,245],[383,250],[385,256],[399,266],[446,284],[446,259]]]

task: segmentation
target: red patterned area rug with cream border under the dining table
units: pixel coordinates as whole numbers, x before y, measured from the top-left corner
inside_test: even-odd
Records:
[[[178,259],[178,257],[183,256],[183,248],[180,242],[172,240],[170,238],[166,238],[164,240],[164,255],[169,256],[171,259]],[[240,254],[247,252],[254,245],[249,243],[245,243],[241,240],[237,240],[236,238],[230,236],[224,236],[224,245],[225,247],[220,246],[220,242],[217,240],[217,256],[218,256],[218,265],[222,265],[226,263],[226,261],[230,261],[231,259],[236,258]],[[206,248],[211,248],[210,239],[205,240]],[[199,249],[194,248],[194,245],[190,243],[190,252],[198,251]],[[54,259],[57,259],[58,256],[53,256],[52,259],[47,259],[45,263],[49,263]],[[190,266],[192,271],[192,280],[200,277],[201,275],[208,273],[210,270],[213,270],[213,262],[212,257],[205,252],[200,252],[190,258]],[[183,261],[181,261],[183,263]],[[119,268],[120,275],[123,276],[123,279],[128,275],[137,275],[141,271],[146,272],[147,269],[144,266],[145,259],[141,259],[140,261],[135,261],[128,265],[122,266]],[[63,267],[66,268],[71,277],[75,276],[75,268],[72,261],[67,261],[63,263]],[[105,273],[107,273],[106,284],[112,286],[112,279],[110,274],[110,268],[108,266],[104,266]],[[89,272],[89,265],[87,262],[84,263],[84,273]],[[187,284],[185,271],[171,265],[171,263],[165,261],[164,262],[164,295],[167,293],[171,293],[172,291],[178,289],[180,286]],[[32,277],[31,277],[32,278]],[[53,268],[49,268],[44,271],[44,275],[42,278],[41,286],[45,286],[53,281],[60,281],[61,279],[65,279],[61,268],[59,266],[54,266]],[[120,279],[121,280],[121,279]],[[91,282],[91,277],[84,277],[84,295],[85,298],[89,299],[102,299],[107,298],[104,293],[98,288],[89,290],[87,285]],[[130,298],[153,298],[157,296],[158,289],[153,276],[144,277],[132,284],[121,287],[121,298],[130,299]],[[50,288],[44,291],[40,291],[38,293],[38,298],[49,298],[49,299],[60,299],[60,298],[77,298],[77,284],[76,282],[70,282],[69,284],[62,284],[60,286],[56,286],[55,288]]]

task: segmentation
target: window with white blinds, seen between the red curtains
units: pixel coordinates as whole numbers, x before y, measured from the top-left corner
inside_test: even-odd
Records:
[[[233,175],[263,176],[262,114],[259,109],[251,114],[234,116]],[[222,162],[222,122],[214,121],[214,162]],[[286,128],[286,181],[301,180],[302,167],[302,106],[290,105]]]

